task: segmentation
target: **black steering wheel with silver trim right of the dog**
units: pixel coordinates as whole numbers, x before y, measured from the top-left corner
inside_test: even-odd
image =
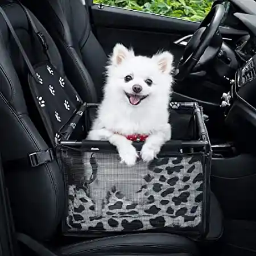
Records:
[[[184,80],[189,73],[195,72],[217,55],[222,44],[218,27],[224,15],[224,6],[217,4],[212,7],[185,47],[177,65],[176,80]]]

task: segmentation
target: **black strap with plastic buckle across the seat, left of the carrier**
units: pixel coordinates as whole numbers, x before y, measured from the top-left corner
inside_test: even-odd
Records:
[[[6,161],[3,163],[3,166],[9,170],[20,166],[31,168],[52,162],[54,159],[55,156],[53,154],[52,148],[48,148],[47,150],[33,152],[24,158]]]

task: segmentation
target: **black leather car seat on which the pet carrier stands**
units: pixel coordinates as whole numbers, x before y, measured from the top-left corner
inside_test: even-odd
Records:
[[[2,2],[5,2],[1,6],[13,24],[31,63],[36,63],[40,51],[34,45],[35,34],[31,32],[26,14],[14,1]],[[63,64],[55,43],[35,16],[31,16],[46,38],[52,64],[64,77]],[[188,238],[163,233],[129,234],[97,240],[90,237],[90,240],[87,238],[78,243],[68,240],[69,245],[63,246],[66,244],[63,241],[67,239],[63,240],[59,228],[65,209],[65,189],[63,175],[56,161],[38,167],[14,165],[10,168],[7,164],[15,159],[27,158],[31,152],[47,150],[49,145],[28,93],[26,65],[2,15],[0,33],[0,151],[18,232],[26,233],[34,240],[46,244],[59,238],[58,241],[61,242],[53,242],[51,247],[53,251],[63,255],[197,255],[195,243]],[[220,210],[214,201],[212,207],[218,212],[213,213],[213,217],[218,216]],[[221,230],[221,218],[214,220],[213,226],[218,226]],[[218,229],[215,237],[220,236]],[[40,255],[40,250],[38,253]]]

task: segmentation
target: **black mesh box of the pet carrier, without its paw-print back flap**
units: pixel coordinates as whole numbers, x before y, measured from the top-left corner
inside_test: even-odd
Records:
[[[97,105],[85,106],[89,130]],[[207,234],[211,150],[203,112],[195,103],[173,102],[170,112],[172,140],[149,164],[142,160],[133,167],[121,164],[109,142],[61,141],[68,234],[142,230]],[[142,144],[134,142],[138,151]]]

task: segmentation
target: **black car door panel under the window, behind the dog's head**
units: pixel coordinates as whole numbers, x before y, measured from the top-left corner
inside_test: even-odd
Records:
[[[175,55],[176,61],[185,46],[176,44],[177,40],[193,35],[200,25],[199,22],[97,4],[92,6],[92,19],[94,32],[107,54],[119,42],[144,55],[167,49]],[[220,32],[229,42],[246,34],[226,27],[221,27]]]

